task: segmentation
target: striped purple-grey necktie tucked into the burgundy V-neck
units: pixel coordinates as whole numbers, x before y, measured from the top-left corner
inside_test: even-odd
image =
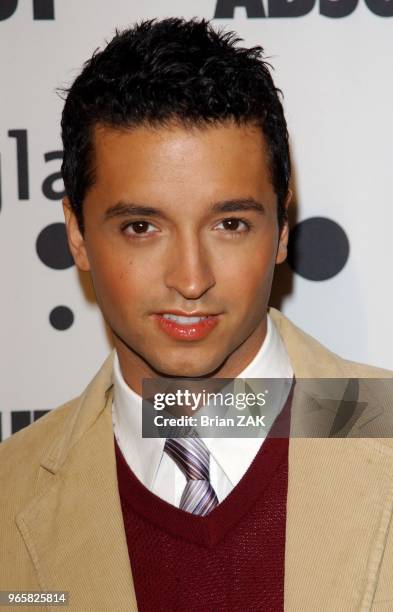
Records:
[[[218,499],[210,484],[210,453],[206,444],[198,437],[167,438],[164,451],[187,478],[179,508],[200,516],[209,514]]]

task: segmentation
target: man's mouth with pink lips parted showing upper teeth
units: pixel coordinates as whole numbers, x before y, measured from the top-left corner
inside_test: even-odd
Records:
[[[158,327],[176,340],[201,340],[208,336],[219,323],[219,314],[161,312],[153,315]]]

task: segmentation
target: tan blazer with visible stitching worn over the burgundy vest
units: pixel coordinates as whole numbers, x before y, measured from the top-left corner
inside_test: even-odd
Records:
[[[270,314],[297,378],[393,376],[340,359]],[[0,445],[0,590],[65,590],[70,611],[137,610],[117,488],[112,361],[113,353],[80,397]],[[360,421],[372,425],[381,406],[369,404]],[[291,438],[285,610],[392,611],[392,512],[393,439]]]

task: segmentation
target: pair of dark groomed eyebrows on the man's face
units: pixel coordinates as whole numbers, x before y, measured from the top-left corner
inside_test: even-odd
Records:
[[[263,215],[266,212],[266,208],[262,202],[258,202],[254,198],[234,198],[231,200],[223,200],[221,202],[215,202],[209,208],[209,212],[213,214],[241,211],[254,211]],[[154,217],[161,219],[167,218],[167,215],[160,208],[147,206],[145,204],[134,204],[133,202],[121,201],[105,211],[104,220],[108,221],[109,219],[128,216]]]

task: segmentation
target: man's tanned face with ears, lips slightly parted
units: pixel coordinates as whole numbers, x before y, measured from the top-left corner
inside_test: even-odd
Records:
[[[64,211],[127,382],[236,376],[265,337],[286,257],[261,130],[100,126],[94,151],[84,237],[67,201]]]

